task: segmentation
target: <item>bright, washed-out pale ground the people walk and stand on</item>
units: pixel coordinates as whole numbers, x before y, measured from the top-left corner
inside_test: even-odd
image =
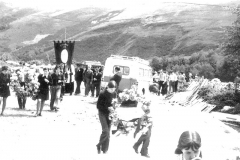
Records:
[[[181,100],[186,93],[177,93]],[[176,97],[176,96],[175,96]],[[240,134],[209,113],[169,103],[151,96],[154,127],[149,147],[151,159],[175,158],[174,150],[180,134],[197,130],[202,137],[206,160],[235,160],[240,156]],[[28,99],[26,110],[17,109],[17,98],[7,100],[5,115],[0,117],[0,159],[3,160],[83,160],[144,159],[132,149],[133,133],[111,136],[108,154],[98,155],[96,144],[101,134],[96,98],[64,97],[58,112],[49,111],[46,102],[42,117],[34,117],[36,101]],[[176,101],[177,102],[177,101]],[[130,113],[130,108],[121,111]]]

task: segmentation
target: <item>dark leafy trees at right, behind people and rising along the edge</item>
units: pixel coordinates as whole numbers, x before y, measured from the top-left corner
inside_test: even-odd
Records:
[[[226,41],[214,50],[193,53],[190,57],[154,57],[151,66],[159,69],[198,74],[205,78],[219,78],[223,82],[240,76],[240,6],[233,8],[237,15],[232,26],[226,28]]]

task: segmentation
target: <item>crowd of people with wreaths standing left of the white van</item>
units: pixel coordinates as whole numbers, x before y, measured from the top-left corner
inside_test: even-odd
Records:
[[[102,71],[101,67],[92,68],[82,64],[77,64],[76,67],[62,64],[53,67],[38,67],[36,65],[27,67],[24,63],[17,68],[3,66],[0,72],[0,97],[3,97],[0,100],[0,105],[3,102],[1,115],[4,114],[11,89],[15,89],[14,91],[17,92],[19,109],[26,109],[28,97],[37,100],[36,116],[42,116],[45,101],[49,99],[50,110],[58,111],[59,102],[63,99],[63,95],[67,93],[79,95],[82,82],[86,88],[85,96],[91,92],[92,97],[98,97]],[[15,81],[14,85],[11,83],[12,81]],[[74,81],[77,84],[75,91]],[[37,91],[28,89],[30,83],[38,83]]]

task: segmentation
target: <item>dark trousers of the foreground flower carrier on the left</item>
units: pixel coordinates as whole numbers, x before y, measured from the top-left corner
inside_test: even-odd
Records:
[[[99,146],[103,152],[107,152],[110,141],[111,121],[108,118],[108,114],[104,114],[101,111],[98,111],[98,115],[102,126],[102,134],[97,146]]]

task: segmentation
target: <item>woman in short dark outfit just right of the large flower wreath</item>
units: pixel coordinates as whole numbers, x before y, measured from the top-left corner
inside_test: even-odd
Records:
[[[48,69],[43,69],[43,74],[38,76],[38,82],[40,83],[39,92],[37,96],[37,112],[35,116],[42,116],[43,106],[46,100],[49,100],[49,85],[51,84],[51,76],[48,74]],[[40,112],[38,113],[40,109]]]

